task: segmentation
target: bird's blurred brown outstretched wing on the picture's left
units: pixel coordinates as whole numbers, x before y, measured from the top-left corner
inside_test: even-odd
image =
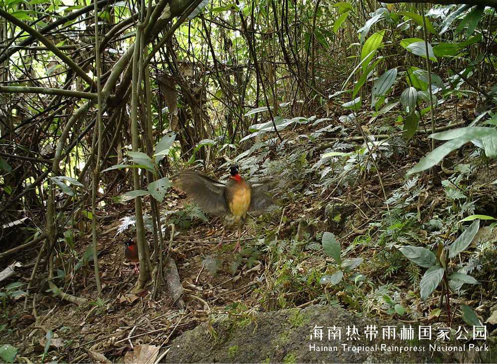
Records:
[[[228,211],[224,198],[224,183],[195,171],[186,171],[179,176],[176,185],[205,212],[220,215]]]

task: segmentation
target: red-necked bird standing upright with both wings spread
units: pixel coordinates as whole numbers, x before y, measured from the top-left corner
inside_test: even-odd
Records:
[[[242,250],[240,241],[242,227],[250,211],[263,211],[273,204],[270,197],[270,182],[249,183],[239,173],[238,166],[230,167],[230,180],[226,183],[215,181],[196,171],[183,172],[176,182],[203,211],[213,215],[224,216],[224,229],[220,248],[226,230],[238,226],[238,241],[235,252]]]

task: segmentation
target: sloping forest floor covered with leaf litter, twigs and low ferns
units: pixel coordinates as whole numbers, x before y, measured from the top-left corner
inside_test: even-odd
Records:
[[[451,124],[449,120],[458,119],[449,117],[443,125]],[[465,212],[461,207],[462,197],[454,199],[449,193],[450,188],[441,182],[451,178],[450,172],[446,175],[446,171],[437,169],[439,176],[432,175],[430,180],[424,176],[416,180],[422,191],[415,195],[410,194],[407,187],[405,191],[402,189],[406,183],[405,172],[424,155],[422,151],[428,149],[429,139],[421,136],[406,147],[405,154],[392,152],[389,156],[378,157],[381,181],[376,172],[363,171],[351,179],[343,177],[347,183],[340,181],[337,188],[336,174],[331,171],[333,165],[320,164],[321,154],[328,151],[325,143],[332,144],[341,139],[351,146],[360,146],[362,142],[353,125],[345,125],[341,132],[330,128],[320,131],[326,124],[285,130],[282,136],[286,144],[279,149],[257,150],[253,148],[256,144],[252,145],[253,153],[247,157],[252,159],[247,162],[248,169],[253,164],[261,166],[271,161],[273,172],[282,171],[276,176],[285,183],[290,182],[291,187],[282,187],[277,208],[249,219],[241,253],[232,252],[236,232],[227,236],[232,242],[226,243],[221,251],[215,248],[222,233],[218,218],[203,221],[194,214],[176,217],[175,221],[184,226],[177,227],[172,257],[184,288],[185,310],[179,310],[172,302],[166,286],[156,299],[152,299],[150,287],[136,295],[129,293],[137,275],[131,272],[132,265],[123,264],[123,242],[134,233],[127,230],[116,236],[116,231],[123,223],[122,218],[134,216],[134,202],[116,204],[107,201],[99,212],[99,216],[105,218],[97,220],[103,282],[101,297],[95,299],[96,285],[90,262],[66,284],[68,291],[88,301],[86,305],[76,306],[48,294],[38,295],[35,316],[31,316],[31,298],[26,309],[22,297],[10,300],[4,304],[0,315],[0,343],[17,348],[18,355],[26,363],[94,362],[95,353],[122,363],[126,361],[125,354],[140,344],[160,346],[163,353],[171,339],[217,315],[248,316],[253,311],[306,307],[314,303],[339,304],[350,311],[379,318],[394,317],[405,322],[446,323],[447,312],[444,305],[439,306],[439,294],[427,301],[419,298],[418,283],[424,270],[408,264],[397,247],[416,244],[432,247],[436,240],[433,240],[433,231],[427,228],[428,222],[443,220],[451,213]],[[385,124],[384,120],[382,124]],[[365,121],[364,125],[368,122]],[[367,128],[374,130],[375,125]],[[347,130],[350,134],[344,135]],[[320,133],[317,138],[308,137],[316,132]],[[336,144],[334,147],[337,148]],[[469,154],[464,150],[461,155],[455,152],[447,162],[457,165]],[[243,166],[244,160],[241,164]],[[327,180],[323,167],[329,168],[335,184],[329,182],[331,179]],[[490,182],[496,180],[496,170],[494,162],[490,167],[482,164],[470,175],[465,175],[464,188],[472,185],[487,188],[475,188],[472,194],[468,192],[469,187],[464,190],[473,199],[479,199],[471,210],[475,214],[495,216],[495,211],[489,210],[485,195],[488,197],[495,192],[495,184]],[[224,173],[222,171],[220,175]],[[459,182],[461,180],[455,183]],[[397,193],[397,200],[391,200],[390,206],[384,204],[383,190],[388,198]],[[455,208],[455,204],[459,207]],[[172,188],[161,204],[161,211],[170,217],[186,205],[188,202],[184,195]],[[409,216],[387,218],[387,212],[390,210],[392,214],[394,209],[403,209],[402,214]],[[459,219],[457,217],[455,221]],[[449,233],[443,231],[444,226],[439,226],[439,229],[438,236],[448,239]],[[357,268],[360,274],[355,275],[353,285],[320,284],[325,273],[336,270],[321,247],[321,236],[325,231],[334,233],[341,243],[342,257],[364,260]],[[59,269],[65,269],[65,259],[69,262],[72,257],[84,255],[91,244],[89,232],[88,224],[84,234],[75,239],[75,252],[61,253]],[[451,235],[449,240],[457,236]],[[148,237],[151,240],[150,232]],[[475,258],[477,249],[472,250],[471,258]],[[489,259],[495,263],[495,248],[492,254]],[[455,267],[456,263],[451,265]],[[452,305],[468,304],[483,321],[486,320],[494,304],[491,297],[497,291],[492,278],[495,273],[489,272],[480,269],[477,279],[481,285],[454,294]],[[486,278],[483,277],[485,274]],[[402,306],[402,310],[393,310],[395,304]],[[455,323],[462,322],[459,314],[454,320]],[[49,332],[54,336],[45,356]]]

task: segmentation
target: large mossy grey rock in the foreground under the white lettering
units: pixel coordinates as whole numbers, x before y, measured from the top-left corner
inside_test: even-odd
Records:
[[[347,326],[359,332],[358,340],[347,340]],[[323,339],[313,337],[315,326],[323,327]],[[329,327],[341,328],[341,339],[328,337]],[[365,337],[365,328],[376,326],[376,339]],[[383,339],[384,326],[395,327],[396,339]],[[358,317],[342,308],[316,305],[258,313],[246,317],[225,318],[197,326],[176,338],[166,363],[495,363],[496,346],[487,342],[488,351],[469,350],[469,343],[458,343],[463,352],[441,352],[454,345],[419,340],[413,325],[414,339],[401,340],[400,330],[409,324]],[[469,330],[471,333],[471,330]],[[317,333],[319,333],[319,329]],[[333,331],[332,331],[333,332]],[[483,344],[480,342],[480,345]],[[492,352],[492,349],[494,352]]]

